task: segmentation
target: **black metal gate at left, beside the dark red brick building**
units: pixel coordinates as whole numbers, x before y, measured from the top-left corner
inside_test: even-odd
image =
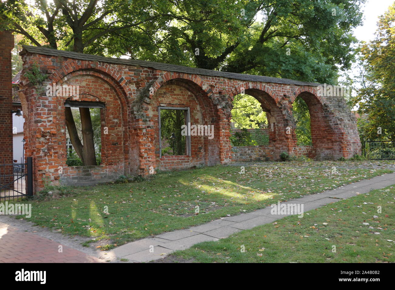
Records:
[[[0,202],[32,196],[32,173],[32,157],[27,157],[26,163],[0,164]]]

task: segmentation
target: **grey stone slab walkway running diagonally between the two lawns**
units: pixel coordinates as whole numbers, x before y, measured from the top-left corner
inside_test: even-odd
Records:
[[[284,203],[303,203],[303,210],[306,212],[331,202],[337,202],[343,198],[355,196],[357,193],[368,193],[372,189],[380,189],[393,184],[395,184],[395,173],[385,174],[348,184],[331,191],[306,195]],[[287,216],[272,215],[270,211],[271,207],[269,206],[250,213],[243,213],[212,221],[205,225],[194,226],[187,230],[176,230],[153,238],[141,239],[114,249],[113,254],[118,258],[128,259],[130,262],[148,262],[163,258],[176,250],[188,249],[196,243],[218,241],[218,239],[227,238],[241,230],[273,223]]]

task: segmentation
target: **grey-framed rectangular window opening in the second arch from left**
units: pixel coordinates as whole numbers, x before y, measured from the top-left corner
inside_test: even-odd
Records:
[[[189,108],[159,107],[160,157],[190,155],[190,136],[182,135],[182,125],[190,123]]]

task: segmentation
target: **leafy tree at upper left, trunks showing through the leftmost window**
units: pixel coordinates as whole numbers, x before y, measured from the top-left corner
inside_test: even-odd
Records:
[[[8,0],[0,2],[0,29],[23,35],[20,44],[84,52],[87,47],[96,47],[108,34],[126,32],[128,28],[138,26],[152,31],[151,24],[166,21],[163,18],[166,15],[156,13],[151,16],[143,8],[132,11],[132,7],[147,7],[147,2],[134,2],[137,5],[122,0]],[[160,5],[160,1],[156,5]],[[150,22],[154,19],[157,22]],[[84,165],[96,165],[90,110],[80,108],[79,111],[82,138],[78,136],[71,109],[65,108],[70,140]]]

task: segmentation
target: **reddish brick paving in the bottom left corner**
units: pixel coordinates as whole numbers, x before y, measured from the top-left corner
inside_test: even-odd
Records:
[[[0,222],[0,263],[97,263],[98,258]]]

